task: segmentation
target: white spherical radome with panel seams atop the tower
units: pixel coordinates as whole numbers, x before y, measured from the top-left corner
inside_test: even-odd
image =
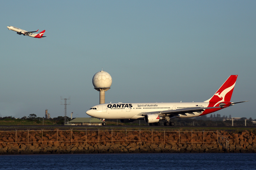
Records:
[[[99,71],[93,76],[94,88],[110,88],[112,77],[106,71]]]

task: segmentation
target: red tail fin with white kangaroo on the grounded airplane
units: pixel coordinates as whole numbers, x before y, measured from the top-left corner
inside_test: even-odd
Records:
[[[235,84],[236,84],[237,75],[231,75],[218,89],[218,91],[207,101],[204,102],[230,102]]]

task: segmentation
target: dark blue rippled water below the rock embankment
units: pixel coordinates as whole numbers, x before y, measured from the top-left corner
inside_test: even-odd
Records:
[[[122,153],[0,156],[2,170],[253,170],[256,153]]]

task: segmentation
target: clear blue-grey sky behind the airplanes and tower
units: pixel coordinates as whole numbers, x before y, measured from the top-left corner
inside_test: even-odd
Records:
[[[0,1],[0,116],[89,117],[93,75],[108,72],[105,102],[203,102],[233,74],[215,112],[256,119],[255,0]],[[42,39],[18,35],[46,30]]]

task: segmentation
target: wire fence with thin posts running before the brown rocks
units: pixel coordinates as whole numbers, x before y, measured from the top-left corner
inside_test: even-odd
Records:
[[[49,142],[151,142],[218,143],[218,131],[166,130],[15,130],[0,131],[3,143]]]

